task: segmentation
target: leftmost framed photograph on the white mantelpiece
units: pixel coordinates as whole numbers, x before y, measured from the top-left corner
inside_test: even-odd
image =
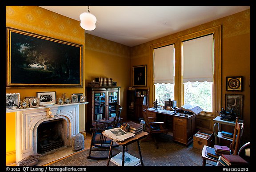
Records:
[[[5,95],[5,102],[6,109],[20,108],[20,93],[7,93]]]

